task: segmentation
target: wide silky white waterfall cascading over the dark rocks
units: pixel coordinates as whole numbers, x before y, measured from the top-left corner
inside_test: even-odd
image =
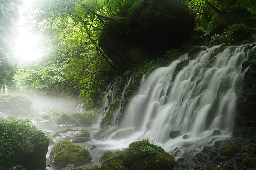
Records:
[[[230,138],[246,72],[241,67],[250,52],[245,53],[244,45],[216,53],[219,47],[207,48],[189,58],[184,54],[168,67],[144,76],[124,111],[121,127],[107,140],[98,142],[110,149],[121,149],[140,138],[152,138],[178,159],[184,153],[195,154],[218,139]],[[106,95],[108,104],[117,98],[111,88]],[[104,109],[108,108],[101,110]],[[213,133],[215,130],[218,133]],[[125,131],[132,132],[118,140],[113,138]],[[182,135],[171,139],[170,131],[181,131]]]

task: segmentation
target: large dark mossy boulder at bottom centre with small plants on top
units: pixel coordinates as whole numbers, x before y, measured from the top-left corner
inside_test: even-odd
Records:
[[[144,141],[133,142],[125,154],[125,161],[131,170],[173,169],[175,159],[164,149]]]

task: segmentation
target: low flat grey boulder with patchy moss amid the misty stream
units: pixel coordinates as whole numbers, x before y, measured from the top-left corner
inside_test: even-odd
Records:
[[[56,132],[52,136],[52,140],[54,142],[68,140],[73,143],[78,143],[78,142],[86,142],[88,140],[91,140],[91,138],[90,138],[89,131],[85,129],[75,130],[75,129],[67,128],[63,131]]]

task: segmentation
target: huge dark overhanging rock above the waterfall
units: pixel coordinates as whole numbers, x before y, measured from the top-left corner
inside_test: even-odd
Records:
[[[195,16],[178,0],[144,0],[117,22],[108,23],[99,45],[123,69],[145,59],[156,59],[186,42]]]

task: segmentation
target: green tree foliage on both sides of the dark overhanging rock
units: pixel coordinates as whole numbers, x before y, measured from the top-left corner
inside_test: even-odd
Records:
[[[98,45],[102,30],[109,23],[125,20],[140,7],[143,0],[35,0],[30,23],[48,53],[40,60],[22,65],[16,75],[16,90],[34,91],[49,96],[68,97],[79,94],[87,107],[96,107],[111,76],[116,73],[111,61]],[[211,41],[216,25],[223,31],[227,9],[246,7],[256,14],[254,1],[183,0],[196,16],[196,31],[203,32],[204,42]],[[230,19],[230,16],[229,18]],[[207,37],[207,38],[205,38]],[[226,40],[226,39],[225,39]],[[207,44],[206,42],[205,44]],[[156,42],[158,43],[158,42]]]

